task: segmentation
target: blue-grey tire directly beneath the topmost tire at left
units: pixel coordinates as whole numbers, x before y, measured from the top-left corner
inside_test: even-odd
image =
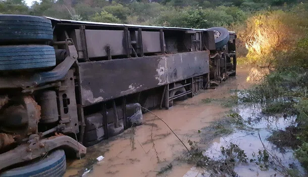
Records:
[[[45,45],[0,46],[0,71],[56,65],[55,49]]]

